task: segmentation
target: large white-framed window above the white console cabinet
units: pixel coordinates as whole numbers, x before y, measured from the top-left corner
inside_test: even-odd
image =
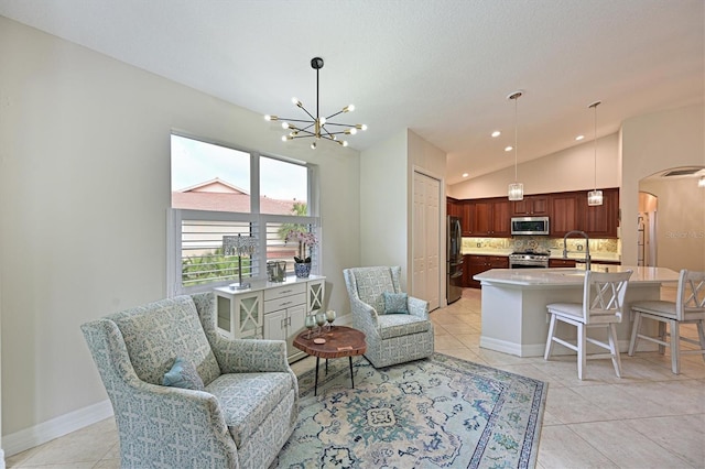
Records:
[[[252,177],[259,175],[259,177]],[[207,291],[245,279],[265,279],[268,261],[293,274],[299,244],[291,230],[315,233],[316,166],[172,134],[172,210],[169,219],[169,294]],[[226,249],[253,238],[249,253]],[[226,242],[227,240],[227,242]],[[312,272],[318,250],[306,250]]]

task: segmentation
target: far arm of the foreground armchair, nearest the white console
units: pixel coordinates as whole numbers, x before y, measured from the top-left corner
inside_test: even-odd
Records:
[[[223,373],[291,371],[283,340],[227,339],[217,336],[213,351]]]

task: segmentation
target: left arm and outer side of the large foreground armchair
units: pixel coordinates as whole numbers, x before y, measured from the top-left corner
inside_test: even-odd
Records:
[[[112,403],[122,463],[196,463],[189,448],[208,447],[220,467],[237,467],[237,447],[214,395],[140,380],[113,321],[99,319],[84,324],[82,329]],[[191,446],[167,449],[160,444],[164,440],[189,440]]]

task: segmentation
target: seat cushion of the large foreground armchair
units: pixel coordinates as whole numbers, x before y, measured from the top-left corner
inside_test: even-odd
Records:
[[[218,399],[238,448],[281,402],[290,399],[293,403],[292,390],[292,377],[286,372],[221,374],[206,386],[206,392]]]

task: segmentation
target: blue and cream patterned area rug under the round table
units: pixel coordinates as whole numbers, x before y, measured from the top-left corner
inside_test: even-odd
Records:
[[[376,370],[362,357],[300,380],[299,423],[273,468],[531,468],[547,384],[441,353]]]

